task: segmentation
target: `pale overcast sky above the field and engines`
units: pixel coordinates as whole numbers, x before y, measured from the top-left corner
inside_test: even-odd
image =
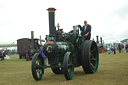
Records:
[[[0,43],[20,38],[45,38],[49,33],[47,8],[56,8],[55,25],[65,32],[73,25],[92,26],[92,39],[105,43],[128,38],[128,0],[0,0]]]

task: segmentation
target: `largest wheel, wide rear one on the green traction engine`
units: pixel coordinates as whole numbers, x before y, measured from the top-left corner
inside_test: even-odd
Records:
[[[81,62],[85,73],[91,74],[97,71],[99,54],[97,45],[94,41],[84,41],[81,50]]]

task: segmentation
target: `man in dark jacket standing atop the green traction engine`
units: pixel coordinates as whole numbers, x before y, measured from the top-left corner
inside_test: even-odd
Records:
[[[86,20],[84,21],[83,32],[84,32],[84,40],[90,40],[91,25],[89,25]]]

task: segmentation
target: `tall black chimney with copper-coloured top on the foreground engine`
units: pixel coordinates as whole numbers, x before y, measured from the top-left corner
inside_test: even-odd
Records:
[[[55,8],[48,8],[49,12],[49,37],[56,36],[56,28],[55,28]]]

